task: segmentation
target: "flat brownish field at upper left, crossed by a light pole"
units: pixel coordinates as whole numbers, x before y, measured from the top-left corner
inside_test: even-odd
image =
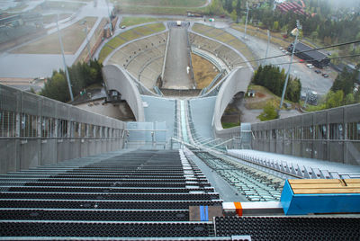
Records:
[[[85,25],[80,24],[87,22],[87,26],[91,29],[96,22],[95,17],[86,17],[73,25],[61,30],[61,39],[64,45],[65,54],[75,54],[81,43],[85,40]],[[58,41],[58,32],[54,32],[40,40],[31,42],[19,49],[14,49],[16,54],[60,54],[60,46]]]

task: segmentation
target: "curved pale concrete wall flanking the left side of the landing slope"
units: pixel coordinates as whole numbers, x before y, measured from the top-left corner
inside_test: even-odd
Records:
[[[129,104],[136,121],[145,121],[139,90],[126,70],[118,65],[107,65],[103,67],[103,80],[108,91],[116,90],[121,94],[121,99]]]

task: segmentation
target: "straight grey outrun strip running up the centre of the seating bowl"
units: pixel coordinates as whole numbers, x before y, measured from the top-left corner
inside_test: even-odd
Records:
[[[187,29],[171,28],[167,47],[163,88],[192,89],[193,81],[186,68],[189,67]]]

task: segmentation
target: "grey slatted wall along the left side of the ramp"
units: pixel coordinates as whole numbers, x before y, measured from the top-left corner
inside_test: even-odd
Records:
[[[123,129],[122,121],[0,85],[0,174],[119,150]]]

